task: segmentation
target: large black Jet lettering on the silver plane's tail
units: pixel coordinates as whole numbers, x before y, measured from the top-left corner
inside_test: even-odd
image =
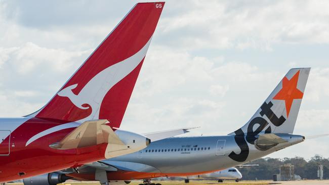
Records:
[[[283,116],[280,116],[279,118],[274,114],[274,112],[271,110],[271,107],[273,106],[273,103],[270,101],[268,104],[266,102],[263,103],[261,106],[261,112],[259,113],[261,116],[266,116],[273,125],[280,126],[284,123],[285,118]],[[259,124],[256,130],[254,130],[254,125]],[[254,145],[255,140],[257,139],[256,135],[258,135],[266,126],[268,126],[269,123],[263,118],[263,117],[255,117],[252,119],[248,125],[248,131],[245,136],[244,140],[244,133],[242,129],[236,130],[234,140],[236,144],[239,146],[241,152],[240,154],[236,154],[235,152],[231,152],[228,156],[237,162],[243,162],[248,158],[249,155],[249,147],[248,143]],[[265,133],[271,133],[271,126],[269,125],[265,129]]]

